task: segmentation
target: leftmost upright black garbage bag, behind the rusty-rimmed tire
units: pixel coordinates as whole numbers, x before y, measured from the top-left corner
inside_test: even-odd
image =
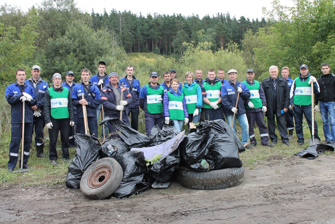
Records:
[[[75,134],[76,154],[68,167],[66,186],[78,189],[85,170],[100,159],[100,142],[96,137],[86,134]]]

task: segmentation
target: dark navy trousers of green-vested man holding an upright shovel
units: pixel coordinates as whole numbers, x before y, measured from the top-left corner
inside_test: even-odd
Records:
[[[303,132],[303,115],[305,115],[306,121],[310,128],[312,136],[312,105],[296,105],[293,106],[294,111],[294,121],[295,121],[295,133],[298,137],[298,142],[304,142],[304,132]],[[318,124],[314,119],[314,138],[319,139],[318,136]]]

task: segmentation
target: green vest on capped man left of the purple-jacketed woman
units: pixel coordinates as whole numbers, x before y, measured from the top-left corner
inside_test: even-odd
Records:
[[[163,99],[162,94],[164,92],[163,87],[158,89],[153,89],[149,87],[149,84],[145,85],[147,87],[147,109],[150,114],[159,114],[163,112]]]

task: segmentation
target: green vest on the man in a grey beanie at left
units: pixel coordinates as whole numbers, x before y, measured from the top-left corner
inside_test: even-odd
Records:
[[[50,87],[48,90],[50,93],[51,116],[54,119],[68,118],[69,110],[67,106],[69,90],[63,88],[61,93],[56,92],[53,87]]]

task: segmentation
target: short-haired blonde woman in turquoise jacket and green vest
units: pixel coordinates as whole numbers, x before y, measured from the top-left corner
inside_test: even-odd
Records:
[[[182,88],[186,101],[186,109],[189,115],[189,122],[198,123],[202,106],[201,87],[196,82],[193,82],[193,73],[185,74],[186,83]]]

